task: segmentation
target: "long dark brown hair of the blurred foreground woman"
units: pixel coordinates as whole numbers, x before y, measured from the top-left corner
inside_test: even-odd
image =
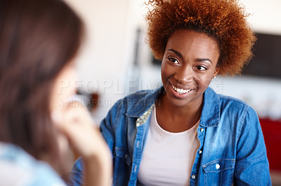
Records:
[[[0,141],[37,159],[58,158],[51,91],[82,34],[81,20],[63,1],[0,1]]]

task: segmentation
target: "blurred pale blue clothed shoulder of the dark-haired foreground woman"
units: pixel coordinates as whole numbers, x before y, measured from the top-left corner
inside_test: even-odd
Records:
[[[0,143],[0,167],[6,185],[65,185],[51,166],[16,145]]]

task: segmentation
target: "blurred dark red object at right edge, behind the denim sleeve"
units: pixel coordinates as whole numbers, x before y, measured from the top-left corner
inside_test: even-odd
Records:
[[[270,170],[281,171],[281,121],[260,118]]]

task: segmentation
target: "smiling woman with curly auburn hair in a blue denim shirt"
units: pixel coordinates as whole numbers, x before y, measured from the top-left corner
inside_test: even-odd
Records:
[[[251,59],[256,38],[244,8],[236,0],[148,4],[147,41],[162,60],[163,86],[119,100],[100,124],[114,185],[270,185],[256,112],[209,87]]]

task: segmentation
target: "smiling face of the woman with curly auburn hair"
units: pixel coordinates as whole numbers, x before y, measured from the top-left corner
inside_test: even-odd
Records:
[[[166,98],[174,106],[201,104],[203,93],[218,73],[218,44],[197,31],[178,30],[166,44],[161,75]]]

